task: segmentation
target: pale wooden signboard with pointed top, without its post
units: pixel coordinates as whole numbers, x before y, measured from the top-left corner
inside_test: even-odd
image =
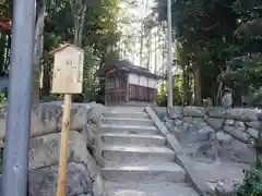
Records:
[[[81,94],[83,86],[84,52],[73,45],[64,45],[52,51],[55,64],[52,94]]]

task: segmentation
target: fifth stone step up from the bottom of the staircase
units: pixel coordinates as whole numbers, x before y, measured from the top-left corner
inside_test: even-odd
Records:
[[[122,124],[103,124],[100,132],[129,133],[129,134],[157,134],[159,133],[155,126],[134,126]]]

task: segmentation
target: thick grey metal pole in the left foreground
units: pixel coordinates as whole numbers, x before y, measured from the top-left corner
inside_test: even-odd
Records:
[[[27,195],[35,0],[14,0],[3,196]]]

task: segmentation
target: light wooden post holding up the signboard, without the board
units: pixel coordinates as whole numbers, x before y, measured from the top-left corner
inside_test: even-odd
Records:
[[[57,196],[66,195],[64,189],[66,189],[66,180],[67,180],[70,110],[71,110],[71,95],[66,94],[64,102],[63,102],[63,121],[62,121],[62,131],[61,131]]]

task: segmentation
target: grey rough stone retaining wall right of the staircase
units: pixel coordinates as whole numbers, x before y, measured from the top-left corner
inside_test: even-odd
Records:
[[[223,148],[219,149],[223,151],[223,156],[230,152],[235,154],[235,157],[239,157],[236,158],[239,162],[250,163],[253,161],[252,145],[259,136],[261,111],[248,108],[174,107],[167,118],[166,109],[155,108],[154,110],[178,139],[184,133],[195,133],[195,140],[199,139],[198,143],[201,144],[201,146],[199,145],[200,150],[206,148],[205,151],[209,154],[215,144],[215,148],[217,146]],[[204,144],[206,140],[212,144]]]

